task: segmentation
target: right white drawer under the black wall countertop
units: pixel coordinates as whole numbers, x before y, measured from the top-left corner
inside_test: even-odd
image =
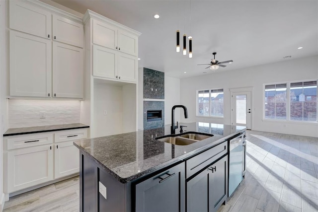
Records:
[[[74,141],[87,138],[86,129],[63,130],[55,133],[54,142]]]

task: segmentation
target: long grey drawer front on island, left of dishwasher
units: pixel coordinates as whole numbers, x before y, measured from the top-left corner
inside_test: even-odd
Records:
[[[228,152],[228,142],[224,141],[188,160],[186,160],[186,178],[197,173],[213,161]]]

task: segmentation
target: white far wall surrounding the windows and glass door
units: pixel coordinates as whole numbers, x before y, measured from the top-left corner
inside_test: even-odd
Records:
[[[233,64],[234,65],[234,64]],[[318,124],[263,120],[263,83],[318,78],[318,56],[289,60],[241,70],[223,71],[181,79],[181,104],[188,108],[189,119],[230,124],[230,88],[253,87],[252,130],[318,137]],[[224,88],[224,119],[196,116],[196,91]],[[182,119],[182,117],[181,117]],[[286,127],[284,127],[284,125]]]

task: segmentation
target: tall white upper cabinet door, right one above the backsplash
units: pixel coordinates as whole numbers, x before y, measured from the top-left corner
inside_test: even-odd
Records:
[[[53,42],[53,96],[83,97],[83,50]]]

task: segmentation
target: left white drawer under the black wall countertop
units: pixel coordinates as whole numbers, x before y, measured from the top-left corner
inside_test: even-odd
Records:
[[[13,138],[8,138],[6,142],[7,142],[7,150],[30,147],[30,146],[38,146],[43,144],[50,144],[50,143],[53,143],[53,134],[41,133],[41,134],[14,136]]]

